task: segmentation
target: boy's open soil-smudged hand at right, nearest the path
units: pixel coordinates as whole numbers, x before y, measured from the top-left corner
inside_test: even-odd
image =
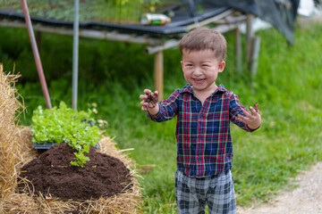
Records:
[[[258,110],[258,103],[254,104],[254,108],[250,106],[251,113],[245,110],[242,110],[242,112],[245,114],[246,117],[242,116],[241,114],[238,114],[236,118],[238,121],[247,124],[247,126],[250,129],[257,129],[260,126],[261,118]]]

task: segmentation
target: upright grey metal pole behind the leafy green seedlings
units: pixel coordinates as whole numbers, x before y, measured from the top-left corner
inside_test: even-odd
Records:
[[[72,49],[72,109],[77,109],[79,29],[80,29],[79,9],[80,9],[80,1],[75,0],[75,12],[74,12],[74,22],[73,22],[73,49]]]

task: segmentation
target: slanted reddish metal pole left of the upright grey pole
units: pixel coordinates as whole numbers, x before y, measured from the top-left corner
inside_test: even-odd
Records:
[[[27,24],[28,33],[29,33],[29,36],[30,36],[30,43],[31,43],[32,53],[33,53],[34,58],[35,58],[41,88],[42,88],[43,94],[45,96],[47,108],[51,110],[52,105],[50,103],[50,98],[49,98],[47,84],[46,84],[46,78],[45,78],[45,75],[44,75],[44,70],[43,70],[42,65],[41,65],[40,56],[39,56],[39,53],[38,53],[37,42],[36,42],[35,34],[33,32],[33,29],[32,29],[32,24],[31,24],[31,20],[30,20],[30,13],[28,11],[28,5],[27,5],[26,0],[21,0],[21,5],[22,5],[22,10],[23,10],[23,14],[24,14],[24,17],[25,17],[25,21],[26,21],[26,24]]]

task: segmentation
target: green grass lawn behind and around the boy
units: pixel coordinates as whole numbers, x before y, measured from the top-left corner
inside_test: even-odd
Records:
[[[0,61],[4,70],[12,70],[14,62],[22,75],[17,87],[28,112],[21,124],[30,125],[32,110],[45,102],[33,73],[37,72],[28,34],[22,29],[1,30]],[[263,120],[251,134],[232,125],[239,206],[265,202],[281,188],[292,188],[287,185],[291,177],[322,161],[322,26],[297,26],[294,45],[275,29],[257,34],[261,37],[257,75],[250,78],[247,70],[236,74],[233,34],[226,34],[227,66],[217,80],[239,95],[245,106],[258,102]],[[53,105],[61,100],[71,103],[72,38],[44,34],[41,58]],[[185,84],[180,60],[177,48],[165,51],[165,96]],[[139,95],[144,88],[153,89],[152,74],[153,56],[144,55],[140,45],[80,40],[79,108],[97,103],[97,117],[109,123],[106,134],[115,136],[120,148],[134,148],[128,154],[138,169],[156,165],[140,179],[142,212],[175,213],[175,119],[155,123],[140,111]]]

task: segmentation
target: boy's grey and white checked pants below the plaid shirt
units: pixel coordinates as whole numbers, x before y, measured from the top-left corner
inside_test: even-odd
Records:
[[[237,213],[231,170],[205,178],[187,177],[177,170],[175,194],[178,214],[203,214],[206,204],[212,214]]]

